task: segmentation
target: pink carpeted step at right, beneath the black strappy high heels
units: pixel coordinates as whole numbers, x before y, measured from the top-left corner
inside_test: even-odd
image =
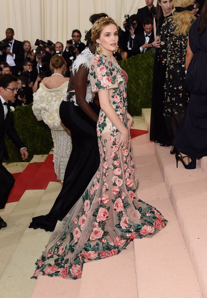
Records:
[[[207,178],[197,164],[186,170],[181,162],[176,168],[169,148],[154,144],[162,176],[191,257],[203,297],[207,297]]]

